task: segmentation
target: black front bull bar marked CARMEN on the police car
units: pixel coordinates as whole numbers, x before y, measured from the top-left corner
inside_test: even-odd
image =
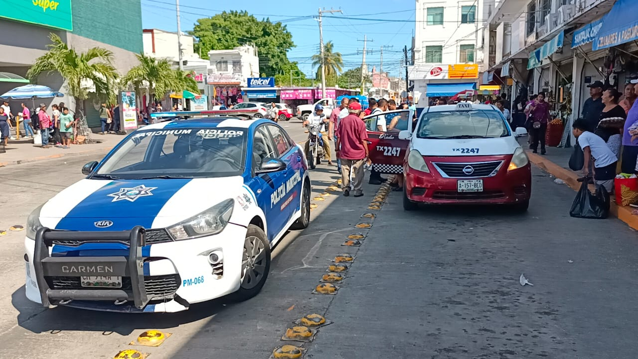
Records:
[[[49,249],[54,241],[76,243],[114,242],[130,243],[127,257],[51,257]],[[49,307],[71,300],[113,300],[115,303],[133,302],[142,309],[149,302],[144,284],[144,228],[131,231],[75,232],[56,231],[42,227],[36,233],[33,266],[40,289],[42,305]],[[51,289],[45,277],[82,276],[130,277],[131,291],[124,289]]]

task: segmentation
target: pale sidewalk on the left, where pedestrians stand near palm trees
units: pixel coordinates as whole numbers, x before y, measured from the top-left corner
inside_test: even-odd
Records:
[[[104,154],[123,138],[122,135],[92,134],[91,139],[98,141],[98,143],[71,144],[68,149],[56,148],[55,146],[41,148],[40,145],[33,144],[33,139],[10,140],[6,152],[0,152],[0,167],[87,153]]]

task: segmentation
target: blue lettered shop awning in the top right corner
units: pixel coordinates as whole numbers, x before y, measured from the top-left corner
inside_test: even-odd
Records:
[[[607,13],[591,49],[600,50],[638,39],[638,1],[618,0]]]

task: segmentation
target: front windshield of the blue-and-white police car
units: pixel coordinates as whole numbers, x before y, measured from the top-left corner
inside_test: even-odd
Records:
[[[138,131],[96,171],[96,179],[237,176],[244,171],[245,128]]]

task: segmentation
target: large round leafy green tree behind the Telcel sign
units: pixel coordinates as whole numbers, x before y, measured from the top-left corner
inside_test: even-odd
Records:
[[[290,63],[286,52],[295,47],[285,25],[270,19],[257,20],[248,11],[224,11],[199,19],[190,34],[197,38],[195,52],[201,52],[206,59],[209,50],[254,45],[258,49],[259,72],[267,76],[285,75],[285,66]]]

